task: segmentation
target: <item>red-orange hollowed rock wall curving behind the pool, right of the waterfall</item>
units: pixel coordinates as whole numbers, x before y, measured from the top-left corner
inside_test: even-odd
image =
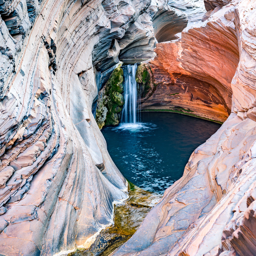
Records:
[[[233,24],[233,23],[232,23]],[[224,122],[231,112],[231,81],[239,62],[238,42],[226,18],[191,28],[182,40],[159,43],[149,61],[152,93],[142,109],[189,109]]]

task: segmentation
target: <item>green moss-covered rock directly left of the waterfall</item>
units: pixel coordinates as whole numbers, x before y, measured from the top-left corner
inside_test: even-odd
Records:
[[[120,112],[124,104],[123,70],[115,68],[105,86],[99,91],[96,122],[100,129],[104,125],[117,125],[120,122]]]

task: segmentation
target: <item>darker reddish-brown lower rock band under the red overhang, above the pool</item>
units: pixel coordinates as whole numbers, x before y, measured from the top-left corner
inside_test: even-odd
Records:
[[[157,86],[141,100],[141,109],[180,111],[220,122],[228,118],[230,108],[211,84],[184,74],[164,76],[157,67],[152,70]]]

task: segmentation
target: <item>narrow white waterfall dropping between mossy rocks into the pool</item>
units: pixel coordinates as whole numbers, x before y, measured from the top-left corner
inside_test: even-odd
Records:
[[[124,71],[124,105],[122,109],[121,123],[136,124],[139,115],[137,115],[137,82],[135,74],[137,65],[126,65]]]

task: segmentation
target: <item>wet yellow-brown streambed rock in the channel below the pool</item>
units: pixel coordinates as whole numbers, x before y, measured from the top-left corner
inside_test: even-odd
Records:
[[[102,230],[88,250],[78,250],[72,255],[109,255],[135,233],[150,209],[162,197],[129,184],[129,200],[115,207],[114,224]]]

